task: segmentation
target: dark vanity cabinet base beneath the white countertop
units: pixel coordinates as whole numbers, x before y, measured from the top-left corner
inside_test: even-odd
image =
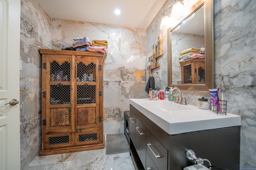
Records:
[[[129,131],[137,170],[183,170],[194,164],[186,158],[189,149],[212,166],[237,170],[240,163],[239,126],[169,135],[130,105]]]

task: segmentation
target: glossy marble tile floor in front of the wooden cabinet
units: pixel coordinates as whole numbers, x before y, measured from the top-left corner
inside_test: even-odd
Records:
[[[106,154],[106,149],[36,156],[24,170],[134,170],[129,152]]]

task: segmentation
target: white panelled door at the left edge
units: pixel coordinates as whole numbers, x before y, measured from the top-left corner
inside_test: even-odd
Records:
[[[20,170],[19,63],[20,0],[0,0],[0,170]]]

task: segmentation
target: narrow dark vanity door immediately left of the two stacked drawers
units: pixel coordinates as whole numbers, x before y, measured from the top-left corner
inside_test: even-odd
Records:
[[[136,119],[136,144],[134,146],[142,165],[146,168],[146,127],[139,119]]]

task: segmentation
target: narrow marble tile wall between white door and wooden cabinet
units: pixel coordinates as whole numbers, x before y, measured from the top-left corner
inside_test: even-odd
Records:
[[[52,21],[38,0],[21,0],[20,3],[20,164],[24,169],[41,149],[38,46],[51,48]]]

